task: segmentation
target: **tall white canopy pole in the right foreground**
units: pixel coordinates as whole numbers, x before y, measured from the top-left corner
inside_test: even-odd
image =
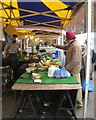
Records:
[[[91,0],[88,0],[88,33],[87,33],[87,66],[86,66],[86,88],[85,88],[85,103],[83,118],[87,115],[87,99],[88,99],[88,84],[90,70],[90,40],[91,40]]]

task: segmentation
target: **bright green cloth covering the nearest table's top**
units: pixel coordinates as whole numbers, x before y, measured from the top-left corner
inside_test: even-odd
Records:
[[[39,84],[78,84],[75,77],[71,76],[68,78],[49,78],[47,76],[47,72],[39,72],[41,74],[41,80],[42,82]],[[31,75],[25,72],[21,75],[21,77],[16,81],[16,83],[21,84],[37,84],[37,82],[34,82],[34,80],[31,78]]]

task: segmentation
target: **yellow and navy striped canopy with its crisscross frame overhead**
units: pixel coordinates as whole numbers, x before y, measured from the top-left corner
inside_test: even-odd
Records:
[[[58,5],[56,5],[56,2]],[[9,2],[8,5],[6,2],[1,2],[0,3],[1,10],[4,13],[3,14],[4,16],[2,17],[4,21],[4,27],[6,26],[6,24],[8,24],[8,22],[9,23],[11,22],[12,25],[18,26],[16,28],[18,30],[19,29],[24,30],[24,27],[26,27],[26,29],[28,28],[30,29],[31,27],[33,27],[31,28],[31,31],[33,29],[43,28],[46,31],[52,30],[52,31],[61,32],[61,30],[68,24],[69,20],[71,20],[74,17],[74,15],[78,12],[80,7],[84,3],[83,2],[66,2],[65,3],[58,0],[56,2],[53,3],[54,5],[50,2],[46,2],[45,0],[42,0],[42,2],[32,2],[32,4],[30,4],[30,2],[22,3],[22,2],[16,1],[14,2],[16,3],[15,5],[13,4],[12,1]],[[35,7],[35,5],[37,7]],[[41,8],[41,9],[36,10],[37,8]],[[20,12],[20,14],[16,14],[15,10],[17,12]],[[91,17],[89,16],[89,18]],[[15,24],[14,24],[14,21],[15,21]],[[21,26],[19,24],[20,21],[24,22],[23,27],[20,27]],[[90,28],[90,24],[88,28]],[[89,32],[88,35],[90,35],[90,31],[88,32]],[[62,31],[62,38],[63,38],[63,31]],[[88,37],[88,41],[90,41],[89,37]],[[90,47],[89,43],[88,43],[88,47]],[[88,60],[87,60],[87,64],[88,64]],[[87,79],[89,78],[88,73],[89,71],[87,69],[87,76],[86,76]],[[87,93],[87,90],[86,90],[86,93]],[[86,94],[86,98],[87,98],[87,94]]]

